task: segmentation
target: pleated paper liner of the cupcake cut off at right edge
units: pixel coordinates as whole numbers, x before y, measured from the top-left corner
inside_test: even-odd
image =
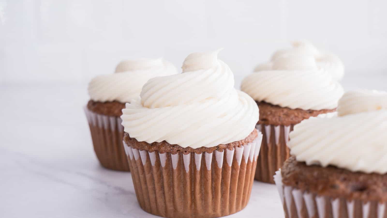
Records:
[[[386,202],[331,198],[283,185],[281,171],[274,176],[286,218],[385,218]]]

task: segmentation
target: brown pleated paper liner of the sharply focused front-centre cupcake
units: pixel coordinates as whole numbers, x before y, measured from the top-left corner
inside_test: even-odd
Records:
[[[140,207],[170,218],[227,216],[247,205],[262,134],[234,150],[171,154],[124,142]]]

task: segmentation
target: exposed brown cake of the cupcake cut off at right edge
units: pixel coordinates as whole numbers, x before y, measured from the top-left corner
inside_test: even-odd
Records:
[[[387,174],[361,173],[334,166],[307,166],[290,157],[281,168],[283,184],[332,198],[387,201]]]

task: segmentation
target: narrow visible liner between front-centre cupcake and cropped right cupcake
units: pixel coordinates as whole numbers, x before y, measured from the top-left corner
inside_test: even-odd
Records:
[[[274,184],[274,174],[290,157],[290,151],[286,144],[289,141],[289,133],[293,130],[293,126],[263,124],[256,126],[262,132],[263,140],[257,160],[255,180]]]

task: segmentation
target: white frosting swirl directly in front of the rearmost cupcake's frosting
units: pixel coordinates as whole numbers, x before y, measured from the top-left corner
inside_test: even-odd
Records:
[[[282,55],[272,62],[272,69],[248,75],[241,90],[257,101],[303,110],[334,109],[344,93],[311,56]]]

